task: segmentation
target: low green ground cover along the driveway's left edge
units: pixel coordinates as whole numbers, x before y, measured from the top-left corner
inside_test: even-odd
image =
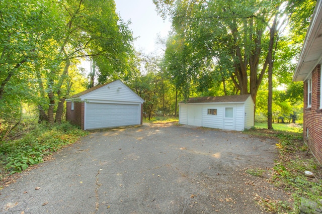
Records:
[[[2,141],[0,158],[4,169],[10,174],[21,172],[28,166],[43,162],[44,157],[58,151],[65,145],[76,142],[87,132],[62,123],[54,127],[37,125],[16,140]]]

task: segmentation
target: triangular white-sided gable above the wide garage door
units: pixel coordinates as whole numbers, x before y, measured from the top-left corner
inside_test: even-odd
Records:
[[[142,102],[136,93],[118,80],[79,97],[86,100]]]

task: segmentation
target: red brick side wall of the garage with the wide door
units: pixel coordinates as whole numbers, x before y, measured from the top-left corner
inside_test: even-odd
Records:
[[[66,121],[84,130],[84,110],[84,102],[74,102],[74,110],[71,110],[71,101],[66,102]]]

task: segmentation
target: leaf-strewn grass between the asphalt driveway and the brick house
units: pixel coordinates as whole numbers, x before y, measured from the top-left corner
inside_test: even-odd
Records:
[[[293,202],[290,204],[289,201],[263,200],[261,205],[274,213],[299,213],[301,197],[317,203],[322,199],[322,166],[313,155],[308,153],[301,129],[295,129],[286,124],[274,125],[274,130],[271,131],[260,129],[259,127],[263,127],[263,124],[256,124],[255,129],[250,129],[245,133],[260,138],[273,138],[278,142],[276,147],[279,151],[279,159],[274,164],[269,181],[289,194]],[[313,172],[315,177],[305,176],[304,171]],[[259,176],[261,172],[250,171],[248,173]]]

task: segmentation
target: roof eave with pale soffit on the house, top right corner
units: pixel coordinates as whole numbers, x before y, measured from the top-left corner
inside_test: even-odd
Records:
[[[322,0],[317,0],[310,26],[294,72],[293,81],[305,81],[322,63]]]

